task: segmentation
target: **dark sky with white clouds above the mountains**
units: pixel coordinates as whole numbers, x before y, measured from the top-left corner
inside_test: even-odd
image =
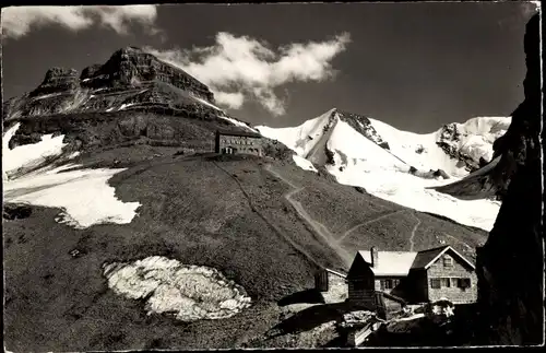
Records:
[[[8,8],[2,93],[136,46],[252,125],[296,126],[336,107],[425,133],[515,109],[535,11],[523,1]]]

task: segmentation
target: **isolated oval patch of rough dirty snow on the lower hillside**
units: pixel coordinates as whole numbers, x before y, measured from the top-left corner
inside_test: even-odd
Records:
[[[146,298],[149,315],[174,314],[178,320],[228,318],[250,306],[245,289],[216,269],[185,266],[152,256],[132,263],[105,263],[108,286],[131,299]]]

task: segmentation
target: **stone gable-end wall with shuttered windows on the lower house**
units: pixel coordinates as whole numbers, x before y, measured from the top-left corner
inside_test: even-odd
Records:
[[[446,256],[451,256],[448,251],[442,257],[440,257],[435,263],[430,266],[427,270],[427,290],[428,290],[428,301],[435,302],[442,297],[448,298],[449,301],[461,304],[461,303],[474,303],[477,299],[477,276],[476,272],[466,266],[463,266],[459,262],[456,257],[452,257],[453,266],[444,267],[443,258]],[[456,286],[456,283],[451,283],[450,287],[443,286],[441,283],[440,289],[434,289],[431,286],[431,279],[441,279],[441,278],[465,278],[470,279],[471,286],[467,289],[461,289]],[[441,280],[440,280],[441,282]],[[450,281],[453,282],[453,281]]]

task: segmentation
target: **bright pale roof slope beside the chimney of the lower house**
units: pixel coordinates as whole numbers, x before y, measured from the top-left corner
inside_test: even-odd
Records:
[[[358,254],[371,264],[370,251]],[[370,269],[375,275],[407,275],[416,256],[415,251],[378,251],[378,263]]]

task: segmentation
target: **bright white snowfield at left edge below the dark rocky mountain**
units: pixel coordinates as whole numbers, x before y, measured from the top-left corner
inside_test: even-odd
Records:
[[[85,228],[103,223],[130,223],[141,205],[139,202],[122,202],[116,198],[115,188],[108,180],[124,169],[80,169],[67,170],[79,165],[63,165],[51,168],[45,166],[13,180],[7,172],[39,166],[46,157],[62,154],[63,136],[46,136],[38,143],[26,144],[10,150],[9,140],[19,125],[9,129],[3,139],[3,197],[4,202],[24,202],[34,205],[60,208],[63,211],[57,222],[76,228]],[[78,155],[78,152],[70,157]],[[60,173],[62,172],[62,173]]]

